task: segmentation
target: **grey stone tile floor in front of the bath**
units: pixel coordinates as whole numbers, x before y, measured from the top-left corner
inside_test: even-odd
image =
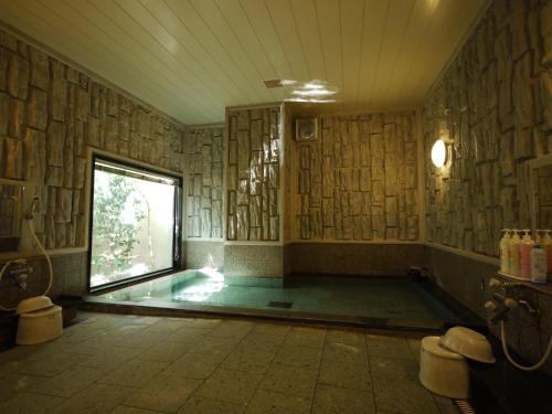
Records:
[[[458,413],[420,340],[241,320],[84,314],[0,352],[0,413]]]

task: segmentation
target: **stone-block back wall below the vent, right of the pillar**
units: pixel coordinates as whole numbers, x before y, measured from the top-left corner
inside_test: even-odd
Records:
[[[415,125],[412,112],[326,116],[318,140],[295,142],[296,240],[417,240]]]

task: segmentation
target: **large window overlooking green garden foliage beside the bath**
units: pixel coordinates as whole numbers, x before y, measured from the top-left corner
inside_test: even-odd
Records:
[[[176,268],[181,180],[94,158],[91,290]]]

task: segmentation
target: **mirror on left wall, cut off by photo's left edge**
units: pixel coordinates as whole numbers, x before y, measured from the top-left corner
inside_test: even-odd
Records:
[[[0,253],[17,252],[21,240],[23,187],[0,181]]]

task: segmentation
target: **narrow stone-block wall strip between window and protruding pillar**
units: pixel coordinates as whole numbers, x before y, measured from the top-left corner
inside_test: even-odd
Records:
[[[188,238],[222,240],[223,126],[190,127],[188,153]]]

